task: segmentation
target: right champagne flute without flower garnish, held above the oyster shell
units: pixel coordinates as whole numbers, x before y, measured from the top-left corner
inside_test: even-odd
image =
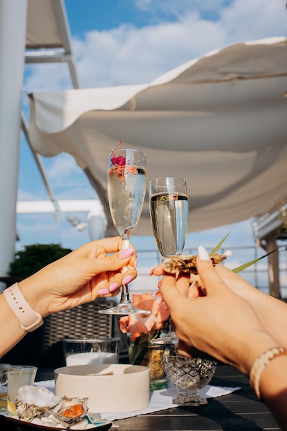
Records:
[[[156,178],[149,182],[149,211],[153,235],[162,257],[180,255],[187,238],[189,201],[183,178]],[[177,344],[178,337],[169,324],[163,337],[151,339],[151,344]]]

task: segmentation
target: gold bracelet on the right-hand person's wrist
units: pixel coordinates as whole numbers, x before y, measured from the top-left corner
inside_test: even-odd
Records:
[[[259,389],[259,381],[262,375],[262,371],[269,364],[272,359],[275,357],[279,357],[282,355],[287,355],[287,350],[284,347],[273,347],[266,350],[266,352],[262,353],[255,361],[253,362],[253,366],[250,371],[250,386],[254,390],[257,398],[260,399],[260,389]]]

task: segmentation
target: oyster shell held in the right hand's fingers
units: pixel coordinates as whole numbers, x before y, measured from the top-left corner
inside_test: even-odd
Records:
[[[220,264],[229,253],[220,254],[213,253],[211,257],[211,261],[213,265]],[[196,255],[176,255],[176,256],[168,256],[162,259],[162,266],[164,271],[170,274],[175,274],[178,271],[182,271],[184,273],[193,273],[197,274],[198,271],[196,269]]]

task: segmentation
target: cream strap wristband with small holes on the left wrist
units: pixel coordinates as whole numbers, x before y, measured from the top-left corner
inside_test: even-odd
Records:
[[[23,330],[31,332],[43,325],[43,317],[28,304],[18,287],[18,283],[6,288],[3,295]]]

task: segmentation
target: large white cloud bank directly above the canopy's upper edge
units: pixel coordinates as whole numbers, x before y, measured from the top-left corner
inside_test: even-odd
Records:
[[[176,22],[89,32],[85,41],[74,44],[81,85],[145,83],[210,50],[281,35],[286,22],[279,3],[262,6],[262,0],[240,0],[222,10],[219,21],[193,11]]]

